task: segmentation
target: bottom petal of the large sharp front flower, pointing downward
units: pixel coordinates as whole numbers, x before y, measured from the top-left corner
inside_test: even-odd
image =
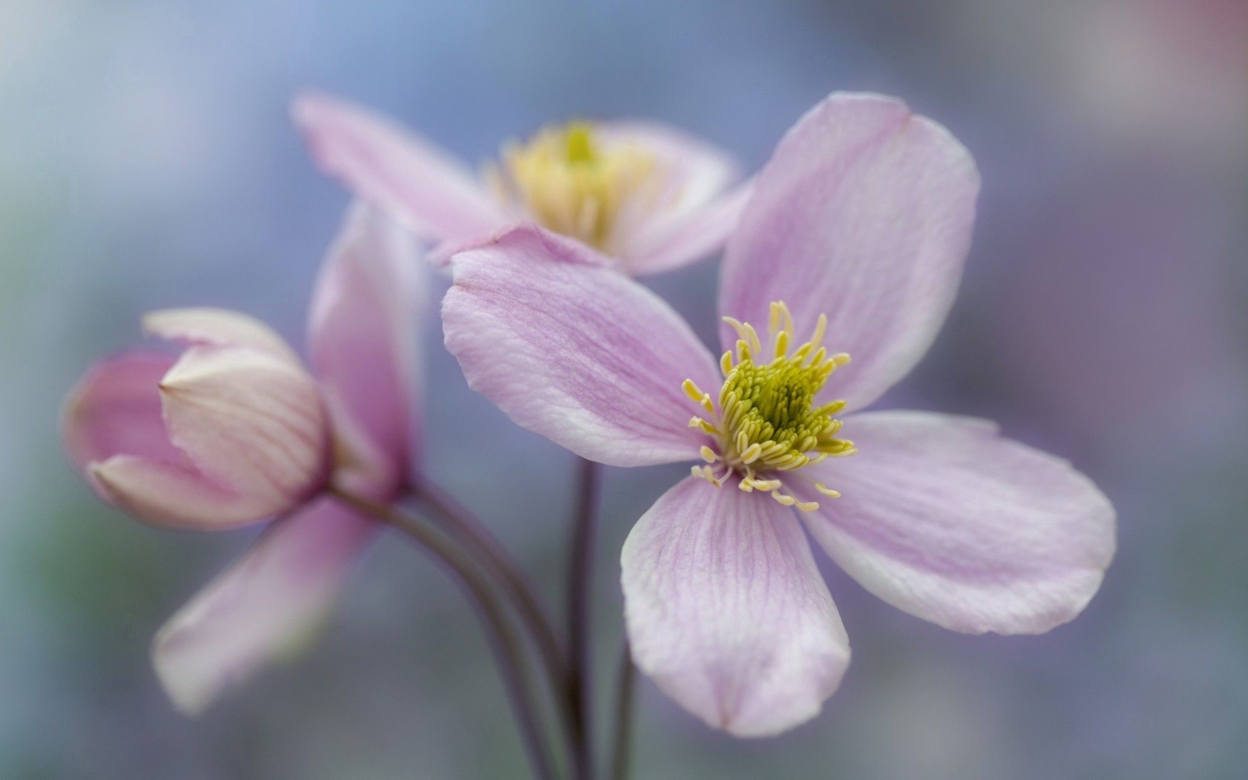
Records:
[[[816,714],[849,639],[792,510],[686,477],[620,557],[633,660],[709,725],[766,736]]]

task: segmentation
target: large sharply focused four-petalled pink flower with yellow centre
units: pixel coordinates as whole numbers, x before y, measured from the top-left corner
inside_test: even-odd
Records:
[[[826,99],[729,240],[719,361],[663,300],[539,227],[452,261],[446,343],[474,389],[600,463],[698,461],[620,563],[635,663],[711,726],[789,729],[845,673],[802,524],[866,589],[958,631],[1045,631],[1099,587],[1114,513],[1067,462],[985,421],[860,412],[943,321],[977,193],[943,127]]]

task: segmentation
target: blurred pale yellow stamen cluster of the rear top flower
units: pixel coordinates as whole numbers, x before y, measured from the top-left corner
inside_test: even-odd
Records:
[[[485,178],[503,202],[522,206],[543,227],[603,251],[614,248],[624,218],[645,216],[659,196],[654,157],[635,146],[604,149],[587,122],[504,145]]]

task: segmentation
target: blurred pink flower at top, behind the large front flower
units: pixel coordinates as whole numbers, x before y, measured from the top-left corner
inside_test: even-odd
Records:
[[[723,246],[746,187],[720,150],[661,125],[570,122],[508,142],[482,176],[424,139],[321,94],[292,106],[316,163],[421,238],[431,257],[532,220],[615,258],[631,275],[669,271]]]

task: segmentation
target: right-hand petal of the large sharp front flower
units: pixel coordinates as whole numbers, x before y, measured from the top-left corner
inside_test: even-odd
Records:
[[[885,602],[956,631],[1038,634],[1099,588],[1113,507],[1066,461],[927,412],[855,414],[845,433],[857,454],[809,467],[841,498],[805,519]]]

